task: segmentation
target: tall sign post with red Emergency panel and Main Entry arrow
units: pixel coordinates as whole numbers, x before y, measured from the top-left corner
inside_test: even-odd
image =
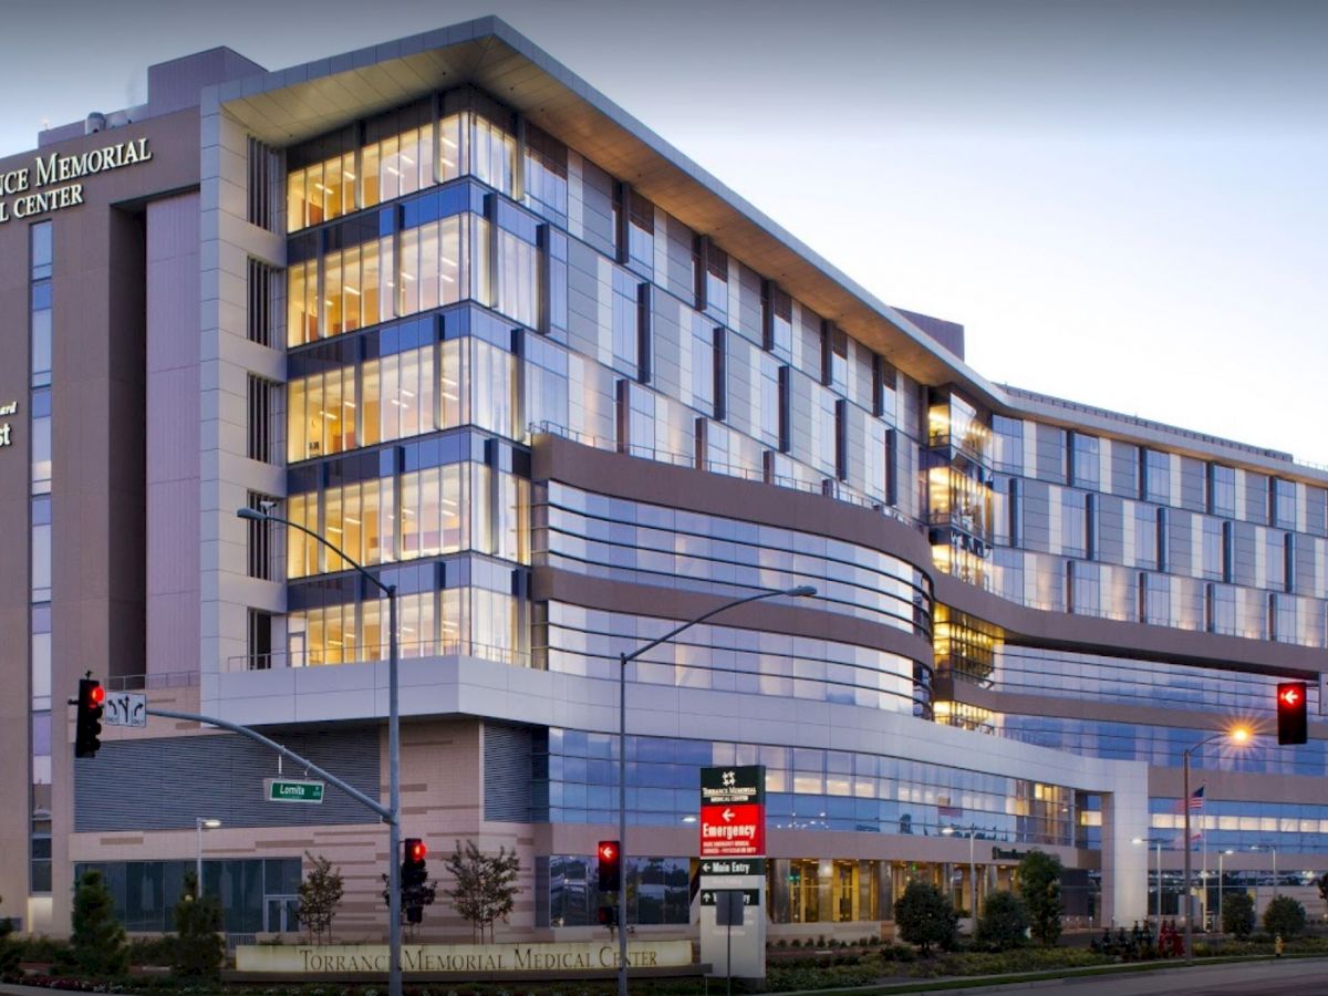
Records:
[[[764,979],[765,768],[703,768],[700,829],[701,960],[718,976]]]

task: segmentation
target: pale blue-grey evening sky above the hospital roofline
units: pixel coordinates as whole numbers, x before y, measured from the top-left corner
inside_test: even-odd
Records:
[[[1328,466],[1328,4],[0,0],[0,154],[487,13],[988,380]]]

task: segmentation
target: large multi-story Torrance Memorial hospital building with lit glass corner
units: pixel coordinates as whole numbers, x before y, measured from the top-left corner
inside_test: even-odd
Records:
[[[991,384],[495,20],[266,72],[215,49],[0,161],[0,912],[102,869],[169,927],[292,930],[307,855],[381,936],[386,829],[154,718],[76,761],[86,671],[386,781],[404,830],[517,849],[511,936],[575,938],[615,837],[649,932],[696,920],[697,769],[762,764],[773,936],[971,906],[1031,849],[1069,912],[1181,894],[1182,750],[1311,683],[1312,741],[1194,754],[1206,900],[1328,867],[1328,474]],[[300,774],[291,772],[284,774]],[[202,821],[220,821],[202,829]],[[1134,843],[1135,839],[1145,843]],[[1161,872],[1154,861],[1161,861]],[[469,936],[442,904],[425,938]]]

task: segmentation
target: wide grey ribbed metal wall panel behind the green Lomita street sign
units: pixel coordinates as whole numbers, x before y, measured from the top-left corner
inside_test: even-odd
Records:
[[[268,736],[371,798],[380,797],[376,728]],[[232,733],[109,741],[97,757],[74,765],[74,831],[185,830],[197,817],[231,827],[378,822],[332,785],[321,803],[267,802],[263,780],[275,774],[271,750]],[[284,774],[297,778],[304,772],[287,761]]]

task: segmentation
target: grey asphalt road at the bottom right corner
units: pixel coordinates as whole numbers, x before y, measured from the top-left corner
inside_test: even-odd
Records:
[[[1046,992],[1048,996],[1328,996],[1328,959],[1247,961],[1151,972],[1056,979],[943,992]],[[932,991],[938,992],[938,991]]]

